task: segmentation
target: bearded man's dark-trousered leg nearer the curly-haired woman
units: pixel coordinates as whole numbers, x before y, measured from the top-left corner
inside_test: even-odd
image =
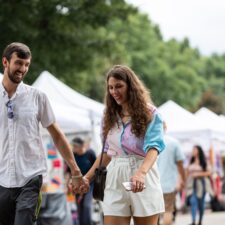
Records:
[[[33,225],[37,219],[39,193],[42,176],[36,176],[21,188],[16,199],[16,216],[14,225]]]

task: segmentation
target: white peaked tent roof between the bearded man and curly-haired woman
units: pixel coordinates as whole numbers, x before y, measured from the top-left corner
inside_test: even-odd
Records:
[[[92,131],[99,123],[103,104],[79,94],[49,72],[42,72],[32,86],[46,93],[64,132]]]

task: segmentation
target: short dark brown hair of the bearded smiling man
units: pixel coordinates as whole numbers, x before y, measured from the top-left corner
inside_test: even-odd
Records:
[[[21,59],[28,59],[32,57],[31,51],[27,45],[19,42],[13,42],[6,46],[3,51],[2,58],[5,57],[8,61],[10,61],[14,52]]]

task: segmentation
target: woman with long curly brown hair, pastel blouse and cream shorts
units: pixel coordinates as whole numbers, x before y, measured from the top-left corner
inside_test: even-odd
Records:
[[[156,159],[164,149],[163,124],[144,85],[128,67],[107,74],[102,135],[108,165],[103,200],[105,225],[157,225],[164,211]],[[90,182],[100,156],[85,175]],[[131,182],[126,191],[123,182]]]

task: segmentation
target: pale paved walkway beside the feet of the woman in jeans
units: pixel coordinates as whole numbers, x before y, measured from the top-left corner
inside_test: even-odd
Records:
[[[188,225],[191,223],[190,214],[178,214],[174,225]],[[206,211],[202,225],[225,225],[225,212]]]

